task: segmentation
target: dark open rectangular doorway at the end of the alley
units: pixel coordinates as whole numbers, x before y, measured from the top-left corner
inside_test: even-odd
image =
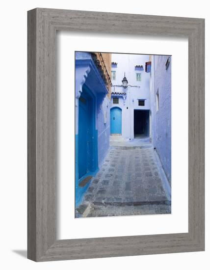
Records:
[[[150,110],[134,109],[134,137],[149,137]]]

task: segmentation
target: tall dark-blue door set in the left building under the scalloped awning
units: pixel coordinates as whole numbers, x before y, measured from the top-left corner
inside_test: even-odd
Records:
[[[87,173],[87,153],[88,153],[88,98],[81,94],[79,98],[79,124],[78,124],[78,164],[79,178]]]

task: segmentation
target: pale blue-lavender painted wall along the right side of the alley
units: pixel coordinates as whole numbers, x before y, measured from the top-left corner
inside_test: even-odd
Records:
[[[171,184],[171,59],[166,70],[167,59],[168,56],[164,55],[152,56],[150,89],[152,142]],[[157,93],[159,95],[158,109]]]

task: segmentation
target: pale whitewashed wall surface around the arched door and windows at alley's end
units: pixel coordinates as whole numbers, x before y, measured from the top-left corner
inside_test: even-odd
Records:
[[[122,137],[132,139],[134,109],[150,109],[150,74],[145,72],[145,62],[149,61],[149,55],[144,54],[112,54],[112,62],[117,63],[117,67],[112,67],[116,71],[116,80],[112,80],[112,92],[126,92],[126,102],[119,96],[118,107],[122,109]],[[142,70],[135,70],[136,65],[143,65]],[[128,88],[115,86],[122,85],[124,73],[128,80]],[[141,74],[141,81],[136,81],[136,73]],[[138,106],[138,99],[145,99],[145,106]],[[113,96],[110,108],[117,106],[113,104]],[[127,109],[128,107],[128,109]]]

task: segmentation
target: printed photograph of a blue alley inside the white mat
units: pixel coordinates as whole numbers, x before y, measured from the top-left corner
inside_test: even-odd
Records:
[[[75,217],[171,214],[171,55],[75,52]]]

